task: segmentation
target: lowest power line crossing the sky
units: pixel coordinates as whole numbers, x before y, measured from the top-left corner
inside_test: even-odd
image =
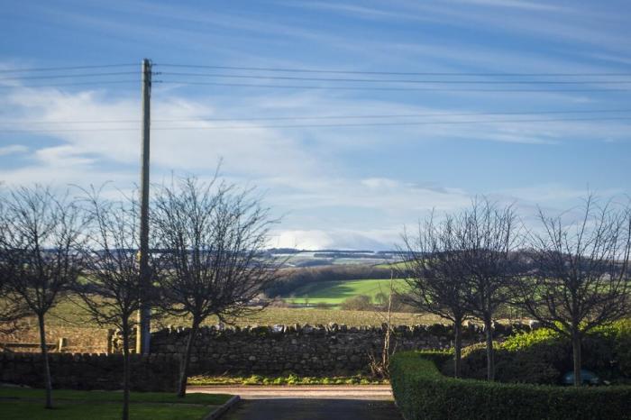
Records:
[[[416,125],[463,125],[480,123],[558,123],[558,122],[587,122],[587,121],[631,121],[631,116],[593,117],[593,118],[548,118],[548,119],[520,119],[520,120],[471,120],[471,121],[424,121],[397,123],[325,123],[325,124],[270,124],[270,125],[242,125],[242,126],[200,126],[200,127],[155,127],[156,131],[183,130],[257,130],[267,128],[335,128],[335,127],[385,127],[385,126],[416,126]],[[24,129],[0,130],[0,132],[136,132],[139,128],[102,128],[102,129]]]

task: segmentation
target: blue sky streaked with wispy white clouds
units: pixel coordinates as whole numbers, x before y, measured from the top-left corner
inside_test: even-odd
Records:
[[[280,218],[270,246],[389,250],[404,226],[475,196],[536,224],[537,208],[575,208],[588,191],[631,193],[627,1],[0,10],[6,186],[133,188],[147,58],[151,181],[211,178],[221,161]]]

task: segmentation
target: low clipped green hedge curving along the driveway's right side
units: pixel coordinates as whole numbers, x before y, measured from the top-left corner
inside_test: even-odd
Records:
[[[449,354],[400,352],[392,392],[406,420],[631,419],[631,387],[573,388],[445,377]]]

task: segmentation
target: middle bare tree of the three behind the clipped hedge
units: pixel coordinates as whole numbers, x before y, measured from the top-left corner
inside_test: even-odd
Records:
[[[453,261],[463,288],[467,311],[484,324],[487,379],[495,379],[493,323],[498,309],[511,298],[511,286],[519,275],[515,260],[521,235],[512,205],[500,206],[487,198],[476,198],[471,207],[455,218]]]

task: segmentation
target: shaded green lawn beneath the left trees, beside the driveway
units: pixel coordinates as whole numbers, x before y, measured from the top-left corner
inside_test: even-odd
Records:
[[[119,419],[123,394],[117,391],[53,390],[51,410],[43,407],[42,389],[0,387],[0,417],[3,419]],[[187,394],[179,399],[173,394],[133,392],[130,417],[155,420],[198,420],[217,406],[224,404],[228,395]]]

